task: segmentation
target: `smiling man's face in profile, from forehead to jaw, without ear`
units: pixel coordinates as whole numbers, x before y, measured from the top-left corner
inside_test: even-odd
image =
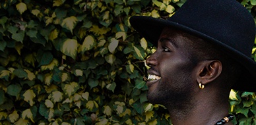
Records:
[[[158,40],[156,52],[146,61],[148,70],[148,101],[162,105],[177,105],[189,101],[195,88],[195,66],[186,42],[176,30],[165,28]]]

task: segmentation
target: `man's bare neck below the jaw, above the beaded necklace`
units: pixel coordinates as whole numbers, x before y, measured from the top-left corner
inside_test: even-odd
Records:
[[[217,95],[217,93],[201,89],[189,103],[183,103],[178,108],[172,105],[167,107],[172,124],[216,124],[218,120],[228,115],[230,103],[228,102],[228,96],[224,97],[224,99],[219,99],[214,95]]]

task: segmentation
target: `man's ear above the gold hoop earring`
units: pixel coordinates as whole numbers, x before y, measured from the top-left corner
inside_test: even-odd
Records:
[[[197,72],[197,82],[206,85],[218,78],[221,72],[222,63],[220,61],[202,61]]]

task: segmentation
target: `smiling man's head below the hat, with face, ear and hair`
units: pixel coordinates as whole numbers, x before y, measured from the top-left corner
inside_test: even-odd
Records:
[[[164,28],[156,52],[146,63],[150,80],[148,100],[152,103],[184,108],[204,84],[205,89],[218,91],[219,99],[228,95],[240,65],[207,41],[175,30]]]

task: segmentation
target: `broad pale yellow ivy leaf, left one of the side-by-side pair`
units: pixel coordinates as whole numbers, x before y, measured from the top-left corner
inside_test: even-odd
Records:
[[[61,47],[61,52],[75,59],[77,56],[77,45],[76,39],[66,39]]]

